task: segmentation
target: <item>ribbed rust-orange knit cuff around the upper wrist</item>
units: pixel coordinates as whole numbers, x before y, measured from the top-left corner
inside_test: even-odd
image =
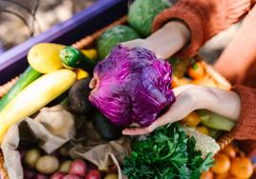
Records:
[[[153,31],[159,30],[164,24],[170,20],[181,20],[189,28],[191,33],[191,42],[180,50],[176,56],[191,57],[198,53],[203,45],[203,25],[201,17],[194,13],[189,7],[175,6],[171,9],[163,10],[157,15],[153,22]]]

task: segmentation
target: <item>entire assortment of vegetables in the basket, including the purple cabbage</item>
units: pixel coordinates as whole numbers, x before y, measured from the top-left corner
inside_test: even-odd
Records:
[[[128,12],[131,27],[106,30],[96,40],[96,50],[51,43],[33,46],[28,53],[30,67],[0,100],[0,144],[13,124],[63,99],[68,99],[72,113],[91,120],[98,133],[111,141],[120,138],[122,129],[132,123],[141,127],[152,124],[175,102],[173,88],[186,84],[220,88],[199,60],[163,61],[150,50],[118,45],[140,35],[147,37],[154,17],[170,6],[167,0],[135,1]],[[123,173],[131,179],[200,178],[213,165],[212,156],[220,149],[213,138],[234,126],[207,110],[193,111],[181,120],[181,125],[167,125],[143,140],[135,140],[131,155],[124,160]],[[21,151],[25,178],[117,178],[115,167],[102,172],[91,169],[89,162],[60,153],[47,154],[36,148]],[[250,166],[243,157],[222,155],[224,151],[216,155],[211,168],[215,175],[228,171],[241,177],[237,170],[243,169],[238,164]],[[231,162],[227,169],[228,165],[218,167],[222,164],[220,158],[238,162]],[[251,171],[243,170],[246,172],[248,178]]]

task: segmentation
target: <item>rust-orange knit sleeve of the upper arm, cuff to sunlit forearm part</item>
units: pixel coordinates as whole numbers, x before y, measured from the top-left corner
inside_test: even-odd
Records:
[[[194,56],[206,40],[239,21],[252,4],[251,0],[180,0],[156,16],[152,29],[159,30],[173,19],[183,21],[190,30],[191,41],[179,54]]]

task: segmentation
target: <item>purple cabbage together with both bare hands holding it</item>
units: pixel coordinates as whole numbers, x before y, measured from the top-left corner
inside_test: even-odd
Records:
[[[177,97],[174,103],[171,68],[159,58],[166,59],[181,50],[188,39],[186,27],[172,21],[147,39],[117,46],[96,66],[90,84],[91,103],[117,126],[127,127],[135,122],[142,127],[124,129],[123,134],[128,135],[148,133],[179,121],[195,109],[209,109],[237,119],[240,99],[235,92],[185,86],[174,89]],[[232,105],[222,104],[221,99]],[[171,106],[168,111],[156,120],[160,110],[168,106]]]

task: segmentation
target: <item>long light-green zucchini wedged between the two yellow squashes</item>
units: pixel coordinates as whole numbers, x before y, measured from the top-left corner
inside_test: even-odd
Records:
[[[33,70],[32,67],[29,67],[23,72],[18,81],[14,86],[6,93],[3,98],[0,100],[0,111],[4,109],[7,104],[22,90],[25,89],[28,85],[32,83],[36,78],[41,76],[36,70]]]

